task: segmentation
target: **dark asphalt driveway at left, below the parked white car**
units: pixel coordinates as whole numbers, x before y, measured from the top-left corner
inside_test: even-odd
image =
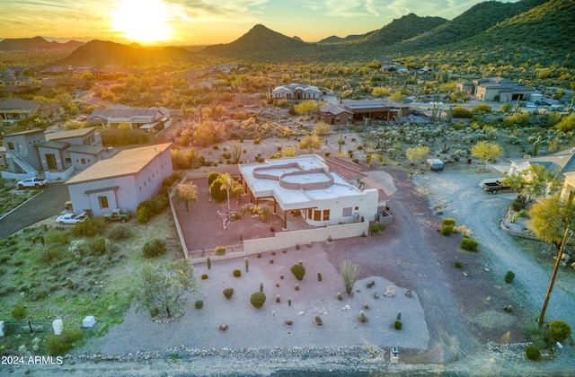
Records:
[[[69,200],[68,189],[62,183],[49,183],[40,195],[26,202],[10,215],[0,220],[0,239],[8,237],[28,225],[46,217],[57,215]]]

